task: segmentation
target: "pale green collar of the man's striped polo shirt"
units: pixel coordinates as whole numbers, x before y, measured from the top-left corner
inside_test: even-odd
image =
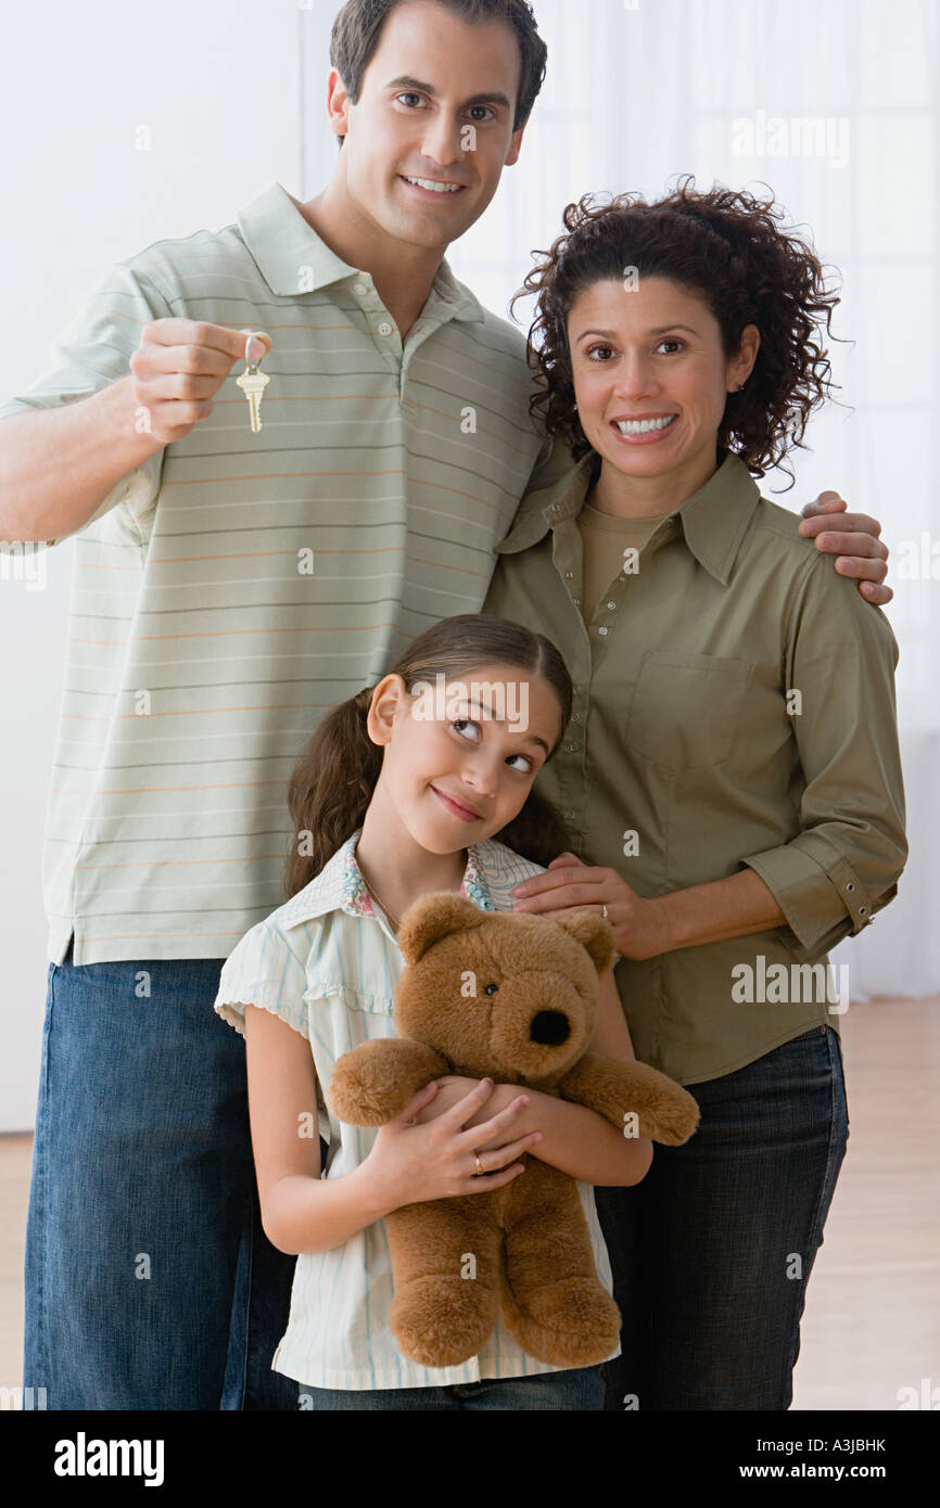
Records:
[[[287,299],[299,297],[297,268],[309,267],[309,288],[317,293],[344,277],[362,277],[317,235],[303,219],[287,188],[276,179],[263,188],[237,216],[241,238],[255,258],[272,293]],[[438,267],[432,299],[438,296],[453,306],[453,318],[483,321],[484,311],[469,288],[462,288],[447,258]],[[429,300],[430,302],[430,300]]]

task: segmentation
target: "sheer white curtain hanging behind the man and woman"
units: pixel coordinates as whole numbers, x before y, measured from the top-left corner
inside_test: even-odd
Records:
[[[302,18],[303,184],[336,148],[323,125],[335,0]],[[898,899],[833,952],[854,998],[940,991],[940,421],[937,0],[534,0],[548,75],[519,163],[448,252],[498,312],[587,192],[668,192],[676,175],[773,192],[840,277],[836,403],[760,489],[800,511],[824,487],[883,522],[901,645],[910,860]],[[531,306],[521,303],[521,320]]]

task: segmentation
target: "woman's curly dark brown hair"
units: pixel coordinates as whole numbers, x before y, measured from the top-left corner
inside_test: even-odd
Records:
[[[572,305],[596,282],[625,282],[628,271],[670,277],[708,305],[726,357],[738,353],[745,324],[760,332],[744,389],[727,395],[718,446],[763,477],[791,448],[807,448],[807,419],[831,395],[830,362],[815,336],[825,323],[825,333],[839,339],[830,321],[840,300],[825,288],[812,246],[777,226],[785,211],[773,192],[762,201],[720,184],[708,193],[691,184],[691,173],[680,175],[673,193],[655,204],[640,193],[605,204],[584,195],[567,205],[564,234],[551,250],[533,253],[542,261],[510,302],[515,317],[519,299],[537,296],[528,335],[528,363],[537,372],[530,409],[549,434],[569,442],[575,458],[585,455],[591,446],[575,409],[567,344]]]

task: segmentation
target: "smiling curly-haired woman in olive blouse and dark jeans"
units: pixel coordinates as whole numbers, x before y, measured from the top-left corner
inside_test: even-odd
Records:
[[[566,657],[537,789],[576,840],[516,894],[610,918],[637,1056],[702,1108],[638,1187],[597,1193],[616,1408],[789,1407],[848,1139],[825,949],[907,855],[892,630],[751,477],[827,395],[839,302],[779,217],[687,181],[585,198],[525,282],[534,407],[579,466],[524,499],[484,611]]]

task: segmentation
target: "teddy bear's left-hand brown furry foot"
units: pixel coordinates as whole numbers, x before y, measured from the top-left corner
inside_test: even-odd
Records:
[[[415,1277],[395,1294],[389,1326],[409,1360],[421,1366],[457,1366],[489,1339],[496,1309],[496,1294],[483,1283]]]

